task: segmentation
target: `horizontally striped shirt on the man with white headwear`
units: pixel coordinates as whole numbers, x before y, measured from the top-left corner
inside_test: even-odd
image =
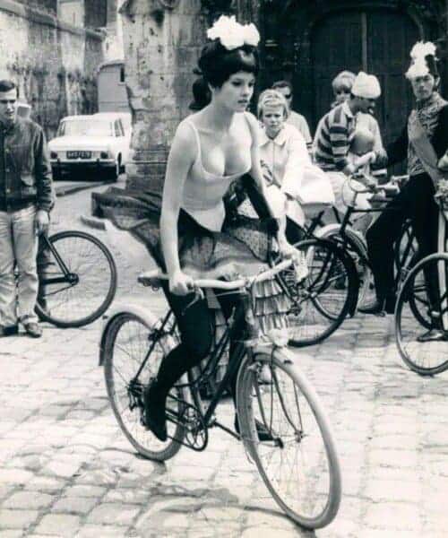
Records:
[[[355,124],[355,117],[347,101],[332,108],[321,119],[314,136],[314,159],[317,166],[326,171],[342,171],[347,167],[347,154]]]

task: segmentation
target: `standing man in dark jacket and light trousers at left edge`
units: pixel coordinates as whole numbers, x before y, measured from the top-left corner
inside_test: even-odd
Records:
[[[39,338],[38,236],[54,204],[47,144],[40,126],[17,115],[18,89],[0,81],[0,335]],[[16,283],[14,267],[17,267]]]

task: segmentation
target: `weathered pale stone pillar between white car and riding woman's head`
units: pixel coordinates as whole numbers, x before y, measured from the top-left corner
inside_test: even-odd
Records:
[[[161,188],[168,146],[192,100],[194,66],[205,36],[200,0],[170,10],[157,0],[128,0],[121,10],[126,84],[134,115],[130,187]]]

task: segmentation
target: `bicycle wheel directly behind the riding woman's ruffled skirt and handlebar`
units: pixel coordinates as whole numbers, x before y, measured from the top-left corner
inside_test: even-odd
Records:
[[[285,271],[277,280],[291,299],[289,345],[305,347],[323,342],[356,307],[358,280],[352,260],[332,241],[305,239],[296,247],[306,253],[306,279],[296,282],[294,271]],[[338,291],[340,278],[347,285]]]

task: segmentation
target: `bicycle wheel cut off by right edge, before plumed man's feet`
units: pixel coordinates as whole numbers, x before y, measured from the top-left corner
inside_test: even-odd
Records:
[[[440,310],[445,329],[445,340],[420,343],[418,334],[422,329],[432,328],[427,296],[425,271],[438,275]],[[404,282],[395,308],[395,340],[401,358],[409,369],[422,376],[431,376],[448,369],[448,254],[426,256],[409,273]],[[436,327],[439,328],[439,327]]]

